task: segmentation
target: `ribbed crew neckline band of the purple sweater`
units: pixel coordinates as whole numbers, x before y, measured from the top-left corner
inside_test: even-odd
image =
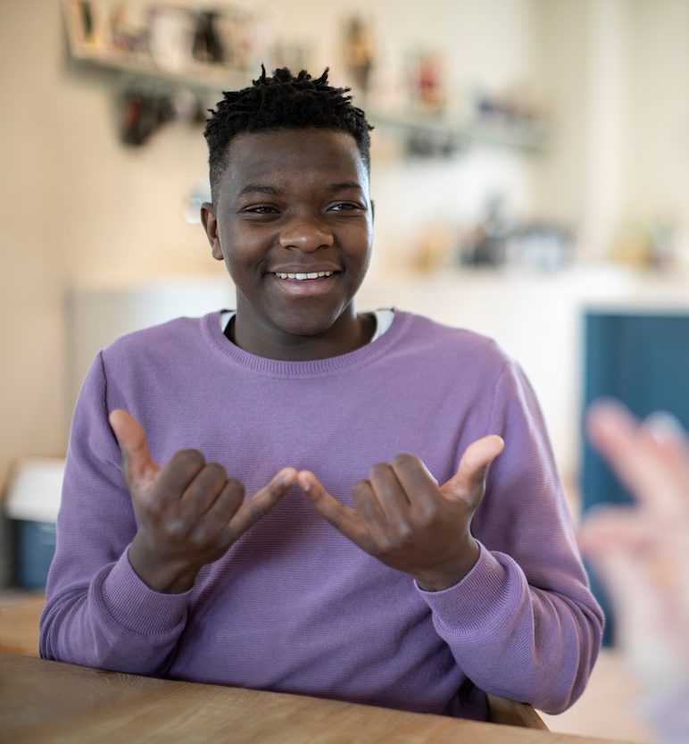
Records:
[[[265,377],[273,378],[318,377],[329,372],[340,372],[360,364],[366,364],[380,355],[385,355],[387,349],[404,333],[411,321],[409,313],[394,310],[390,327],[378,339],[369,341],[368,344],[347,354],[328,356],[326,359],[294,362],[254,355],[243,348],[237,347],[225,336],[220,327],[221,312],[223,311],[209,313],[202,319],[203,333],[211,341],[214,349],[234,364]]]

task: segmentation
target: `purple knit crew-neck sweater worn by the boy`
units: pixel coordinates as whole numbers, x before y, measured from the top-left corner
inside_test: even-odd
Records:
[[[291,489],[183,594],[138,579],[137,522],[107,422],[124,408],[164,464],[194,447],[253,494],[285,465],[343,503],[371,465],[409,452],[437,481],[497,433],[472,532],[477,564],[431,593],[379,563]],[[351,354],[282,362],[246,353],[218,313],[115,341],[74,414],[41,619],[41,655],[122,672],[485,715],[480,690],[558,712],[601,639],[544,422],[493,341],[396,312]]]

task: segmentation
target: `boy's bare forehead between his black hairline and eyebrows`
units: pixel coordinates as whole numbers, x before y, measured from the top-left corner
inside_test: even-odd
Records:
[[[269,130],[246,132],[228,145],[220,188],[238,193],[246,184],[322,180],[355,181],[364,191],[369,176],[356,140],[338,130]]]

